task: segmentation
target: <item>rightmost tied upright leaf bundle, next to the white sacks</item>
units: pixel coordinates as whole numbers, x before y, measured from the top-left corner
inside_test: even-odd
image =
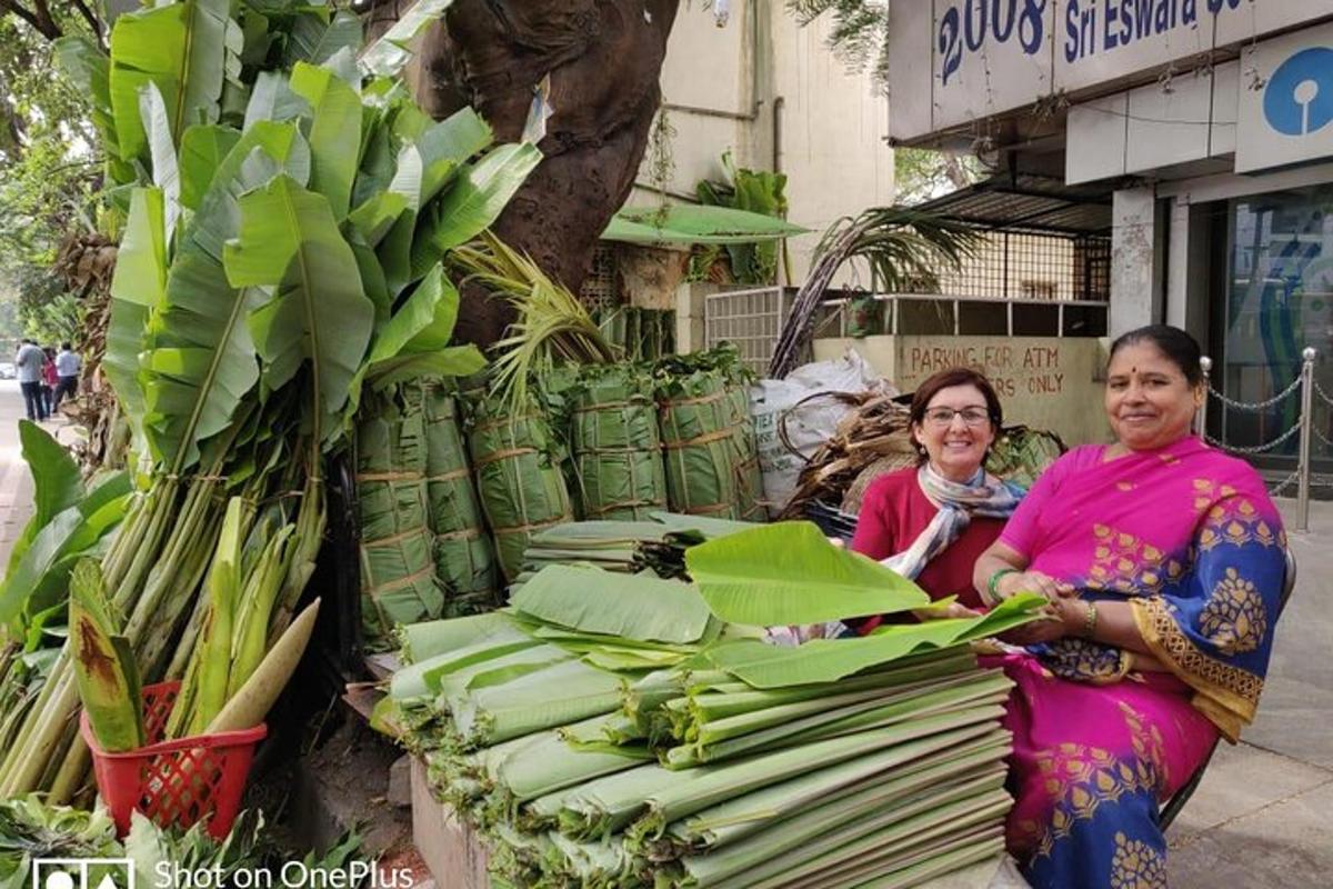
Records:
[[[714,518],[766,517],[748,376],[734,347],[657,363],[668,502]]]

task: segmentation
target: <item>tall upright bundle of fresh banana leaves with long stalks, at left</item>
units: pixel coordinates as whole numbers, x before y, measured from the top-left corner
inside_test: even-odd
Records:
[[[323,541],[325,456],[348,445],[363,392],[484,365],[444,347],[457,291],[441,260],[540,153],[492,148],[471,109],[423,113],[392,79],[408,37],[357,56],[351,13],[183,0],[121,15],[109,56],[59,48],[96,107],[108,183],[131,187],[103,369],[141,472],[100,573],[145,684],[187,670],[215,620],[200,590],[231,549],[229,498],[248,504],[243,553],[276,574],[272,648]],[[73,654],[13,732],[0,797],[84,786]]]

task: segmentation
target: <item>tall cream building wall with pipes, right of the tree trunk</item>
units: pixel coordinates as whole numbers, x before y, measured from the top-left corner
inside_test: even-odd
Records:
[[[802,28],[781,3],[738,0],[718,28],[702,4],[682,5],[661,85],[674,129],[666,191],[692,196],[698,180],[722,179],[728,149],[738,167],[786,173],[789,217],[812,229],[790,241],[797,281],[818,232],[893,201],[888,101],[868,73],[848,73],[832,53],[826,23]],[[651,191],[652,163],[651,144],[632,204],[661,200]]]

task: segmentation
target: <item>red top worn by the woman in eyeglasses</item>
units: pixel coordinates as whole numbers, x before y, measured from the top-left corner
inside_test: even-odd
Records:
[[[880,476],[865,492],[852,549],[870,558],[886,558],[912,545],[940,509],[916,480],[916,466]],[[1000,518],[973,518],[962,536],[925,566],[916,582],[930,598],[957,596],[968,608],[982,608],[972,586],[972,568],[1004,529]],[[873,626],[862,628],[869,632]]]

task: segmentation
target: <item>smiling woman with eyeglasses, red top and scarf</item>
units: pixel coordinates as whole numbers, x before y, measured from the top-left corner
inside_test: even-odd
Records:
[[[972,566],[1021,497],[982,468],[1000,431],[1000,397],[982,375],[953,368],[917,387],[909,416],[917,465],[869,486],[852,549],[910,577],[932,598],[957,596],[961,606],[978,608]],[[857,630],[878,624],[872,617]]]

